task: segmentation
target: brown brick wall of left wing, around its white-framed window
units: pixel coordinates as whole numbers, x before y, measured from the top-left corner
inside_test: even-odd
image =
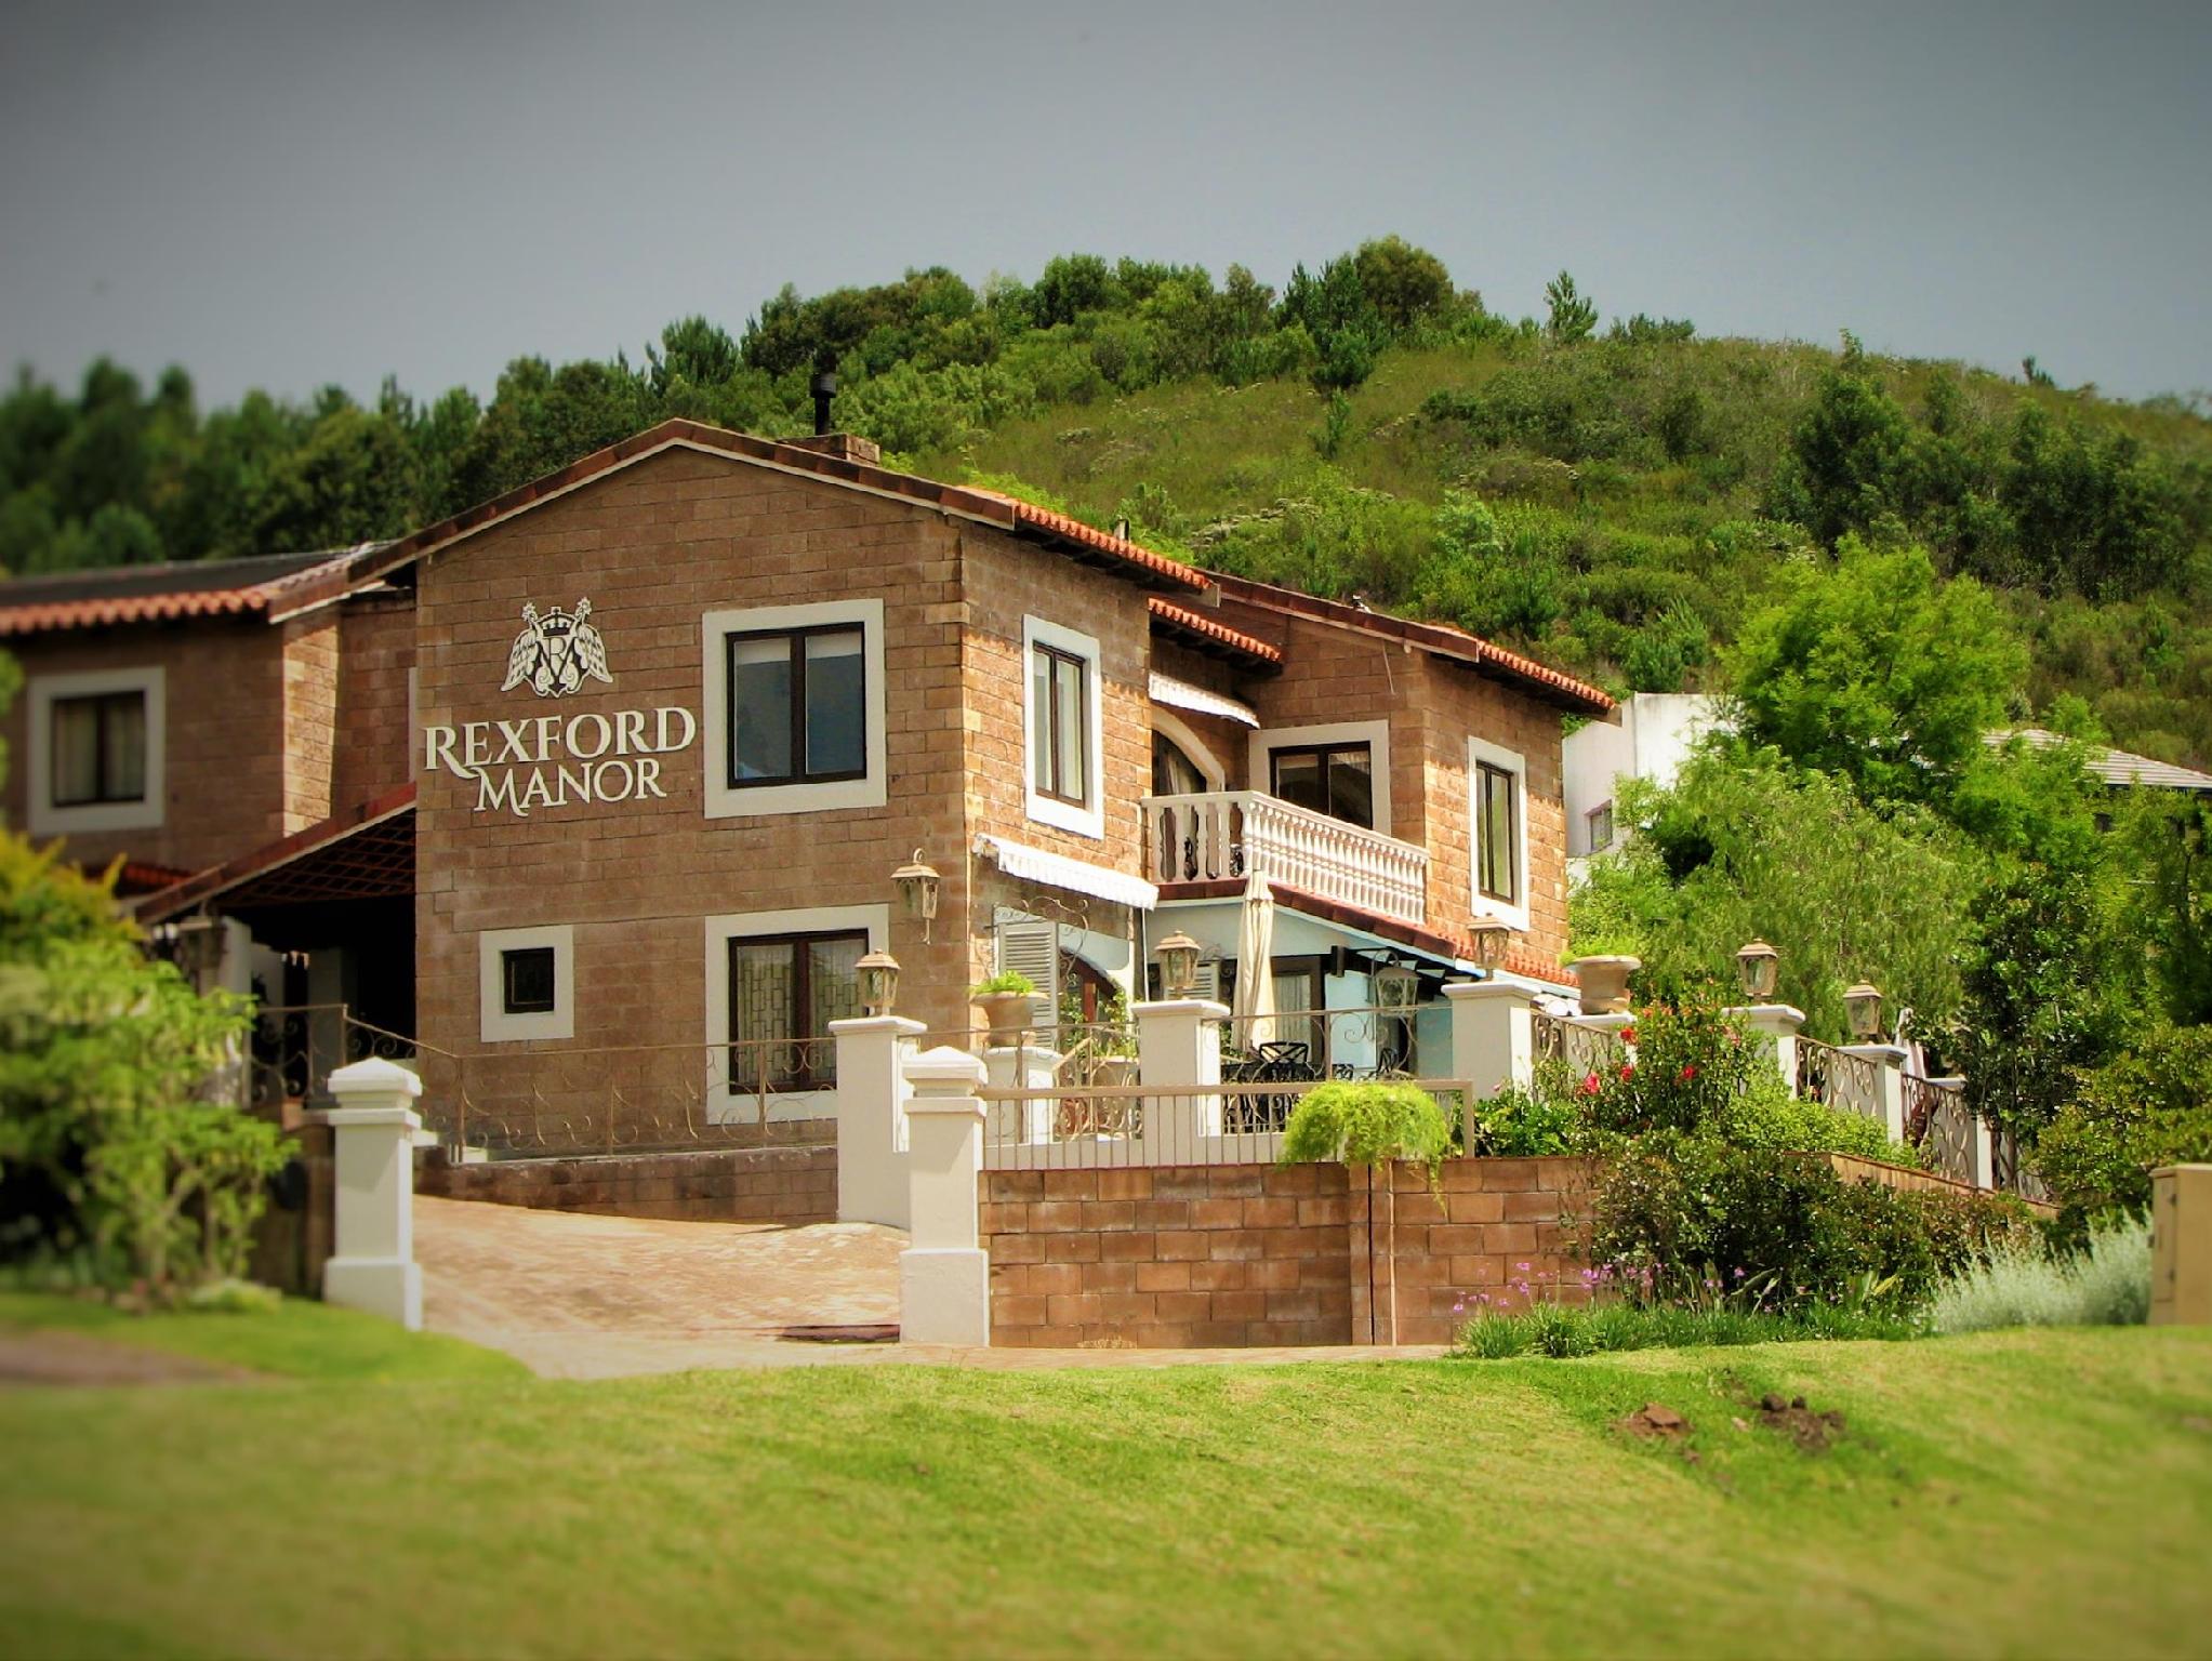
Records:
[[[66,858],[106,865],[117,854],[186,871],[219,865],[283,836],[285,630],[265,621],[146,624],[38,635],[9,644],[29,679],[80,670],[161,666],[168,723],[164,823],[73,834]],[[0,721],[7,741],[9,825],[29,827],[29,688]]]

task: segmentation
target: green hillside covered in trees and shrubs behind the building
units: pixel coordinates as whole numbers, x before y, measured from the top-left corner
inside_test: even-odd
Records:
[[[1458,621],[1617,690],[1705,686],[1836,542],[1924,546],[2028,646],[2013,717],[2212,761],[2212,422],[2177,400],[1958,365],[1601,327],[1562,274],[1511,321],[1385,239],[1281,294],[1097,257],[982,290],[945,270],[686,318],[644,363],[520,358],[489,403],[327,389],[199,411],[95,363],[0,400],[0,568],[396,535],[664,416],[838,425],[936,476],[1055,500],[1225,568]]]

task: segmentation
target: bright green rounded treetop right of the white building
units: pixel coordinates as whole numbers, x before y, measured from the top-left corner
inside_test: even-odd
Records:
[[[1922,549],[1849,537],[1834,566],[1787,568],[1725,661],[1750,743],[1869,801],[1944,803],[2026,675],[1986,588],[1940,582]]]

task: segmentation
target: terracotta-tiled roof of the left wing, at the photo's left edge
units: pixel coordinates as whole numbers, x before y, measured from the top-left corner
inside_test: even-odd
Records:
[[[325,549],[15,577],[0,584],[0,637],[177,617],[261,615],[276,621],[343,595],[347,562],[358,553],[363,549]]]

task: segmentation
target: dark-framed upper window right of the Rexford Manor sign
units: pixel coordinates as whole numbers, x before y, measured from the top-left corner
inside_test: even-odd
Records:
[[[867,776],[867,668],[858,628],[728,635],[726,646],[732,790]]]

